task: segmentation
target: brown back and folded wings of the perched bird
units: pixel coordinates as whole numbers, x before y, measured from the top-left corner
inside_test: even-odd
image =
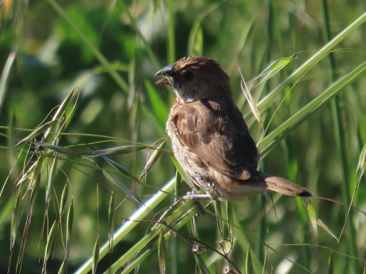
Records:
[[[181,142],[217,172],[246,180],[257,170],[257,146],[231,98],[185,104],[175,127]]]

